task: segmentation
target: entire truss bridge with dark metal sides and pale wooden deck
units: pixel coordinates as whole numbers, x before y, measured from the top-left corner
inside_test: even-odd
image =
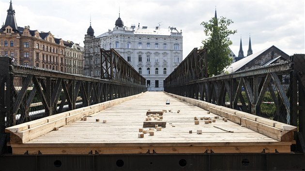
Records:
[[[101,79],[0,57],[0,170],[304,170],[304,63],[208,78],[195,48],[149,92],[113,49]]]

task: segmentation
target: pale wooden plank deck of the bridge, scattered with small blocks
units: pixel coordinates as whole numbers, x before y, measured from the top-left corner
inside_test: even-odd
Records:
[[[166,104],[169,100],[170,104]],[[202,104],[203,105],[203,104]],[[199,106],[199,105],[198,105]],[[281,127],[275,128],[266,125],[263,122],[251,121],[246,116],[239,116],[236,113],[234,117],[229,118],[228,122],[223,121],[223,114],[215,119],[215,122],[205,124],[201,117],[210,117],[214,119],[217,114],[210,113],[198,106],[178,100],[164,92],[146,92],[134,99],[124,101],[120,104],[113,105],[105,110],[85,114],[86,121],[81,120],[84,115],[74,117],[68,121],[70,116],[76,114],[64,114],[63,126],[59,130],[46,131],[39,136],[32,138],[22,137],[23,142],[14,141],[19,136],[18,132],[24,132],[24,136],[31,136],[35,132],[44,130],[46,127],[57,128],[55,123],[46,125],[43,123],[39,126],[30,126],[28,129],[34,131],[21,130],[17,128],[7,128],[11,132],[11,146],[13,154],[189,154],[189,153],[289,153],[290,145],[293,142],[293,129],[295,127],[277,123]],[[100,107],[100,106],[99,106]],[[93,108],[88,108],[93,109]],[[213,109],[217,109],[214,106]],[[162,111],[162,121],[166,121],[166,128],[157,131],[153,128],[154,135],[144,134],[144,138],[138,138],[139,128],[143,128],[143,122],[147,116],[147,111]],[[179,113],[177,111],[180,110]],[[221,109],[219,109],[221,110]],[[89,110],[90,111],[90,110]],[[98,110],[99,111],[99,110]],[[169,112],[171,111],[171,112]],[[213,111],[213,110],[210,110]],[[82,111],[84,114],[86,109]],[[228,112],[228,111],[227,111]],[[217,112],[214,112],[217,113]],[[235,117],[236,115],[236,117]],[[49,116],[51,117],[51,116]],[[54,117],[54,116],[53,116]],[[194,117],[198,118],[199,124],[195,125]],[[253,116],[252,116],[253,117]],[[153,116],[151,116],[154,121]],[[237,123],[235,123],[236,118]],[[96,121],[99,119],[99,121]],[[257,119],[257,118],[256,118]],[[44,120],[44,119],[41,119]],[[54,121],[63,120],[57,118]],[[71,120],[71,119],[70,119]],[[103,123],[106,120],[106,123]],[[234,122],[230,121],[233,120]],[[243,122],[244,120],[244,122]],[[54,122],[52,120],[48,122]],[[268,120],[267,120],[268,121]],[[270,121],[270,120],[269,120]],[[257,128],[252,128],[258,124]],[[264,121],[265,122],[265,121]],[[271,121],[270,121],[271,122]],[[243,124],[244,123],[244,124]],[[251,124],[252,123],[252,124]],[[28,124],[29,125],[29,124]],[[28,126],[27,125],[27,126]],[[285,127],[286,126],[286,127]],[[41,128],[36,128],[41,127]],[[264,129],[260,131],[256,129]],[[290,130],[285,130],[285,128]],[[149,129],[149,128],[143,128]],[[265,134],[268,132],[287,131],[289,138],[281,141]],[[15,134],[14,131],[16,130]],[[192,133],[190,133],[192,130]],[[197,134],[197,130],[202,130],[202,134]],[[275,131],[274,131],[275,130]],[[27,132],[27,133],[25,133]],[[260,132],[260,133],[259,133]],[[292,133],[291,133],[292,132]],[[265,135],[264,135],[265,134]],[[292,139],[291,139],[292,134]],[[285,134],[287,135],[287,134]],[[280,136],[280,135],[279,135]],[[271,138],[273,137],[273,138]],[[19,140],[19,139],[18,139]]]

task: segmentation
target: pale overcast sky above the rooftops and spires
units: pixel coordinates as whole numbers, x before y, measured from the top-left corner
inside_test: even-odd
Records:
[[[9,0],[0,0],[0,22],[5,22]],[[238,56],[242,38],[246,56],[251,35],[253,53],[272,45],[288,55],[305,53],[304,0],[12,0],[19,27],[48,32],[80,43],[90,26],[98,36],[113,29],[121,11],[124,26],[176,27],[183,32],[183,58],[206,39],[202,21],[214,16],[233,20],[231,50]]]

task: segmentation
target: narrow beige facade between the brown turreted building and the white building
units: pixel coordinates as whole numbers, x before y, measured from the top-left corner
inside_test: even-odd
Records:
[[[84,70],[84,48],[77,43],[71,41],[63,41],[65,45],[64,58],[65,67],[64,71],[68,73],[83,74]]]

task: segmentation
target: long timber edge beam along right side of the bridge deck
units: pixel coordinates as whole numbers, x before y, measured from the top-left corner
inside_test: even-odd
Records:
[[[210,111],[213,114],[218,114],[222,117],[226,117],[234,123],[240,124],[246,128],[250,128],[277,141],[292,142],[294,139],[293,132],[297,130],[297,127],[263,118],[254,114],[248,114],[224,106],[218,106],[216,104],[208,103],[202,100],[178,96],[171,93],[167,94],[179,100],[183,100],[198,106],[204,110]]]

